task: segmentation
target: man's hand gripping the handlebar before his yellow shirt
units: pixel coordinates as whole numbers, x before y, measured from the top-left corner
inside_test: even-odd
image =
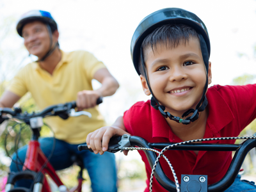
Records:
[[[101,97],[99,91],[83,90],[77,93],[77,111],[82,111],[83,109],[93,108],[97,104],[97,99]]]

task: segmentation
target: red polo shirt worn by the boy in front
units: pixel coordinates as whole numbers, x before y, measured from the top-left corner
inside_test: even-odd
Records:
[[[256,118],[256,84],[246,86],[214,85],[206,94],[209,116],[205,127],[204,138],[238,136],[239,133]],[[124,125],[131,135],[145,138],[150,143],[175,142],[179,137],[173,134],[170,126],[159,111],[147,102],[137,102],[124,113]],[[204,141],[203,143],[235,143],[235,140]],[[143,151],[139,151],[146,166],[147,189],[151,168]],[[164,152],[177,174],[180,182],[181,174],[208,175],[208,184],[218,182],[228,170],[232,161],[231,152],[168,150]],[[172,171],[161,157],[164,173],[173,180]],[[154,178],[153,191],[166,191]]]

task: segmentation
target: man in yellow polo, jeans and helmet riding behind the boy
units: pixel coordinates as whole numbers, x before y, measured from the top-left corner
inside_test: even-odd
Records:
[[[38,60],[26,65],[14,77],[0,99],[0,108],[12,108],[26,92],[31,92],[40,109],[76,100],[77,110],[86,109],[92,113],[92,118],[45,118],[56,137],[56,148],[50,163],[56,170],[61,170],[72,165],[70,156],[77,154],[88,170],[93,191],[116,191],[115,156],[110,153],[100,156],[89,151],[78,152],[77,145],[86,141],[89,132],[104,126],[96,100],[113,95],[118,82],[104,64],[89,52],[60,50],[57,24],[49,12],[25,13],[17,24],[17,32],[24,38],[29,54],[37,56]],[[98,90],[92,89],[92,79],[102,84]],[[45,156],[49,156],[53,138],[43,138],[40,143]],[[26,157],[26,150],[27,146],[19,149],[22,161]],[[14,155],[13,159],[16,158]],[[15,163],[11,164],[10,169],[17,172]],[[21,183],[30,187],[28,180]]]

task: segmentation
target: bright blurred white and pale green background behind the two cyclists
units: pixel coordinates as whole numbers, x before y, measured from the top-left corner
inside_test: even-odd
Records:
[[[100,111],[110,125],[115,119],[139,100],[148,100],[141,89],[140,77],[133,68],[130,44],[134,30],[141,19],[161,8],[177,7],[195,13],[207,26],[211,40],[212,86],[213,84],[256,83],[256,1],[151,1],[151,0],[0,0],[0,95],[17,71],[36,58],[28,57],[23,40],[15,25],[20,15],[29,10],[51,12],[58,23],[60,48],[63,51],[83,49],[92,52],[103,61],[120,83],[115,95],[104,98]],[[100,84],[93,81],[93,87]],[[29,93],[17,106],[26,111],[36,110]],[[256,123],[250,124],[243,135],[252,135]],[[0,125],[0,191],[8,173],[10,154],[14,151],[14,140],[19,131],[7,123]],[[42,136],[51,134],[44,127]],[[29,129],[22,131],[19,147],[25,145],[30,136]],[[255,152],[251,152],[243,165],[244,177],[254,179]],[[145,189],[145,167],[137,152],[129,156],[116,154],[118,164],[119,191],[143,191]],[[77,167],[63,170],[61,175],[68,187],[76,184]],[[90,191],[90,179],[83,191]]]

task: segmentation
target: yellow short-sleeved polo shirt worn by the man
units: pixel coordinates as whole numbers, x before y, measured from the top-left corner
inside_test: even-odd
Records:
[[[93,75],[100,68],[106,68],[105,65],[90,52],[61,53],[61,61],[52,75],[38,63],[29,63],[13,78],[8,90],[20,97],[26,92],[31,92],[40,109],[76,100],[77,93],[82,90],[93,90]],[[92,113],[92,118],[77,116],[63,120],[58,116],[52,116],[45,118],[45,122],[51,126],[59,140],[74,144],[84,143],[88,133],[105,126],[104,118],[97,106],[85,111]]]

